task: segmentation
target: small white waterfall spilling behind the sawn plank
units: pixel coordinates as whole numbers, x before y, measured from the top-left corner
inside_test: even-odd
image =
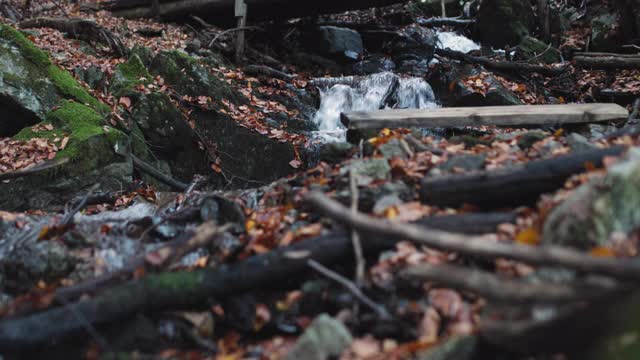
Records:
[[[340,113],[374,111],[394,103],[397,108],[431,109],[437,107],[431,86],[421,78],[400,78],[383,72],[369,76],[316,79],[320,90],[320,109],[313,121],[320,131],[315,137],[322,142],[344,141],[346,129]]]

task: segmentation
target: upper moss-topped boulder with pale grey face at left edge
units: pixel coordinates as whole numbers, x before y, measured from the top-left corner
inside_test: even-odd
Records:
[[[109,111],[22,33],[0,25],[0,108],[12,114],[0,120],[0,136],[12,136],[43,121],[64,99],[87,104],[102,114]]]

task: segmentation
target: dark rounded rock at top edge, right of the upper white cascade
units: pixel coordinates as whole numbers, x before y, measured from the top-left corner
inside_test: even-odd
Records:
[[[515,46],[531,33],[536,16],[528,0],[483,1],[478,12],[478,40],[484,45]]]

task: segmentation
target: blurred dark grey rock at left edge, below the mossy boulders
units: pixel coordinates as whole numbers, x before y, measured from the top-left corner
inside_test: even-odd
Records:
[[[75,263],[67,248],[55,241],[29,241],[3,259],[2,271],[7,280],[29,288],[40,280],[56,281],[69,275]]]

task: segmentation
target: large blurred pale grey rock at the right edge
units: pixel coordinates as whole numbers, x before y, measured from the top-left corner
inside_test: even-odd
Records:
[[[544,224],[547,244],[589,249],[603,246],[614,232],[640,227],[640,148],[632,148],[603,177],[580,186]]]

